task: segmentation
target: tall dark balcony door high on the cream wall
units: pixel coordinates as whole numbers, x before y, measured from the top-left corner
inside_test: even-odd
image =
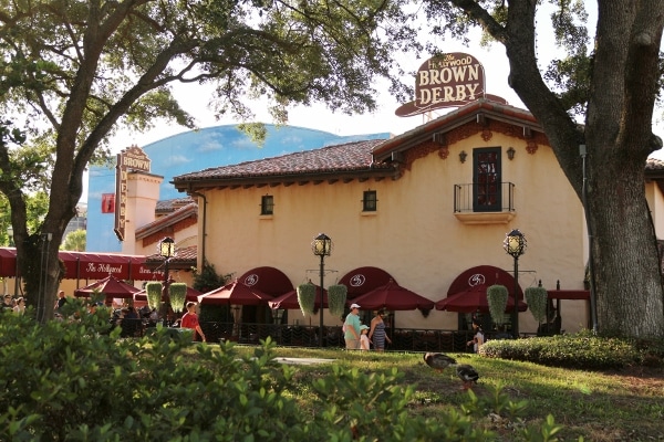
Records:
[[[473,210],[500,211],[502,207],[500,148],[474,149],[473,161]]]

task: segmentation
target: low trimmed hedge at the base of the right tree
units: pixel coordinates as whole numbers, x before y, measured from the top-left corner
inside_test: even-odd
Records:
[[[642,365],[664,354],[656,345],[594,336],[590,332],[516,340],[489,340],[479,354],[490,358],[530,361],[552,367],[604,370]],[[658,355],[658,357],[657,357]]]

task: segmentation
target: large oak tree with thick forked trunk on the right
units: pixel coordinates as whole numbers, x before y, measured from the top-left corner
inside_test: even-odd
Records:
[[[649,155],[662,147],[652,120],[662,86],[664,2],[598,0],[592,41],[583,1],[549,0],[551,22],[538,23],[543,3],[429,0],[425,8],[438,33],[467,38],[480,27],[505,46],[509,85],[543,126],[585,202],[599,330],[662,336],[664,293],[644,173]],[[547,32],[567,56],[540,69],[537,36]]]

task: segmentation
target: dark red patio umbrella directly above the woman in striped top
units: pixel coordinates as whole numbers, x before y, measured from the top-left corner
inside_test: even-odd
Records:
[[[347,304],[360,304],[362,309],[414,311],[415,308],[432,309],[434,302],[402,287],[394,281],[382,285],[347,301]]]

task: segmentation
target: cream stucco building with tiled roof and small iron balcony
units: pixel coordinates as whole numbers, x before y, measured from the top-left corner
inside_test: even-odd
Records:
[[[646,193],[661,233],[658,167],[649,169]],[[224,273],[272,266],[295,286],[318,282],[310,244],[324,232],[333,241],[325,285],[372,266],[437,302],[476,269],[484,270],[488,285],[499,272],[511,274],[513,261],[502,242],[518,228],[528,241],[519,260],[520,290],[541,282],[549,291],[558,284],[573,291],[559,296],[571,297],[558,304],[561,328],[589,325],[583,207],[526,110],[479,99],[396,137],[211,167],[173,182],[206,208],[199,212],[198,260],[205,250],[205,259]],[[288,318],[318,320],[298,311]],[[324,322],[340,324],[328,312]],[[398,312],[394,326],[460,324],[455,312],[412,311]],[[538,328],[528,312],[519,324],[523,333]]]

